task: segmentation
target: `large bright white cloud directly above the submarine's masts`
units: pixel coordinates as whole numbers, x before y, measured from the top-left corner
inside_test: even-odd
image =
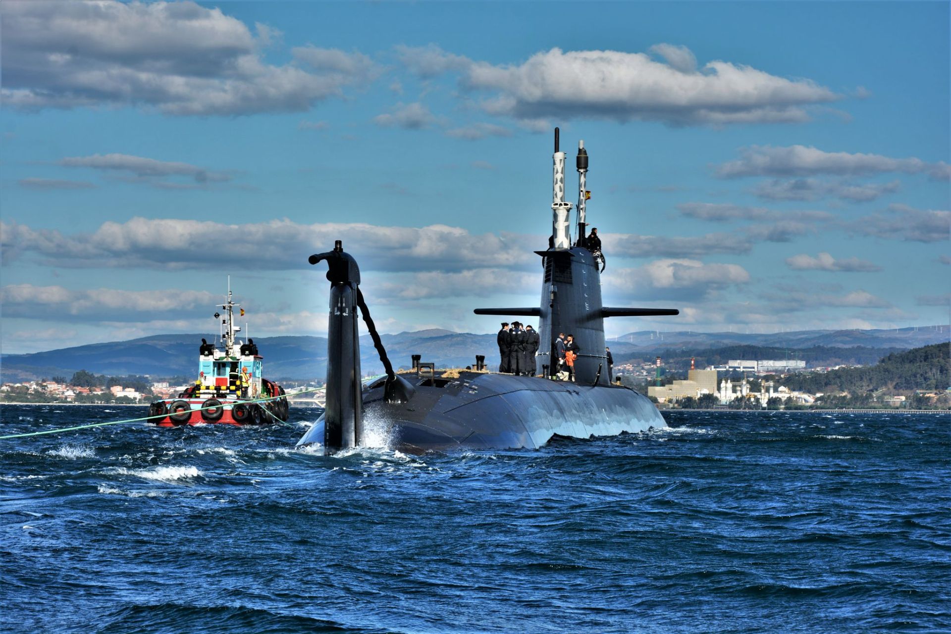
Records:
[[[723,61],[692,71],[689,49],[659,45],[653,50],[669,62],[657,62],[645,53],[552,48],[520,65],[453,59],[452,67],[463,69],[464,87],[495,93],[482,103],[487,112],[520,120],[790,123],[808,119],[804,106],[840,98],[808,80],[788,80]],[[433,58],[439,62],[430,66],[433,72],[449,67],[445,53]]]

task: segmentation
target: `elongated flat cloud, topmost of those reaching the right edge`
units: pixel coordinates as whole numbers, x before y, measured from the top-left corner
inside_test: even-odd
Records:
[[[921,159],[892,159],[879,154],[825,152],[816,147],[751,145],[740,150],[740,159],[719,165],[716,175],[723,179],[746,176],[867,176],[886,172],[927,174],[947,181],[947,163],[925,163]]]

